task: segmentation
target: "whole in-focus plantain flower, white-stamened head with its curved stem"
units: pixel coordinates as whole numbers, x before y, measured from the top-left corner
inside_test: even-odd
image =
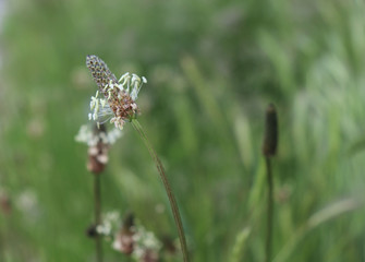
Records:
[[[188,255],[186,240],[177,201],[166,177],[165,168],[151,144],[149,143],[139,122],[136,120],[136,116],[138,115],[139,109],[135,100],[138,96],[142,85],[147,83],[146,78],[139,78],[136,74],[125,73],[119,80],[117,80],[115,75],[111,73],[105,61],[95,55],[86,57],[86,67],[90,70],[93,79],[98,85],[98,91],[90,100],[92,112],[88,115],[89,120],[93,119],[97,121],[97,124],[100,124],[100,120],[106,116],[109,116],[111,117],[110,122],[114,123],[115,128],[120,130],[123,129],[125,122],[131,121],[133,128],[139,133],[156,164],[157,170],[168,194],[172,214],[178,227],[183,258],[184,261],[187,262]],[[104,98],[98,97],[99,93],[104,95]]]

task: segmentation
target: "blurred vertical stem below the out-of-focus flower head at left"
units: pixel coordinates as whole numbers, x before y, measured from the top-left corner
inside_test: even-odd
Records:
[[[100,174],[94,174],[94,205],[95,205],[95,226],[101,224],[101,194],[100,194]],[[101,236],[96,235],[96,261],[102,262]]]

